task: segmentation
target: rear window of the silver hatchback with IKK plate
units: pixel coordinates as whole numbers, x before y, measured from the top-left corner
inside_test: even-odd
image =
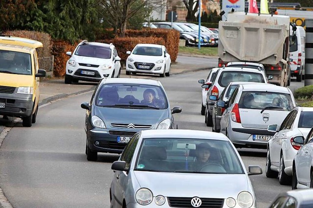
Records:
[[[244,91],[240,97],[239,108],[291,111],[293,104],[290,94],[277,92]],[[279,108],[277,108],[279,107]]]

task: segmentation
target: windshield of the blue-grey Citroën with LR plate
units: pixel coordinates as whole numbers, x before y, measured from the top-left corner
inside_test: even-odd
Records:
[[[103,84],[96,96],[101,107],[166,109],[162,88],[146,84]]]

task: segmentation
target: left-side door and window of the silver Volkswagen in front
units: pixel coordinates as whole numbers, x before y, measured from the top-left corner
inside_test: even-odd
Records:
[[[130,140],[130,142],[125,147],[121,157],[120,161],[125,161],[126,168],[131,168],[130,164],[134,156],[134,150],[136,148],[136,145],[138,143],[139,135],[135,134],[134,137]],[[128,183],[128,171],[119,171],[116,170],[114,173],[114,198],[118,201],[120,205],[122,205],[123,199],[124,199],[124,193],[127,188]]]

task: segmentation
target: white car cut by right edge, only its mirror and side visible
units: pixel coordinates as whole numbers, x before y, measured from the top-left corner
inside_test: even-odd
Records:
[[[313,128],[307,137],[296,137],[294,143],[301,146],[292,162],[291,188],[313,188]]]

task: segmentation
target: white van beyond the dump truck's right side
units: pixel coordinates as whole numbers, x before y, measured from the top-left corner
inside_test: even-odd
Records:
[[[290,29],[290,37],[292,37],[292,29]],[[291,77],[296,77],[297,82],[301,82],[305,64],[305,30],[303,27],[297,26],[296,37],[295,42],[289,48],[289,60]],[[292,43],[291,38],[290,43]]]

